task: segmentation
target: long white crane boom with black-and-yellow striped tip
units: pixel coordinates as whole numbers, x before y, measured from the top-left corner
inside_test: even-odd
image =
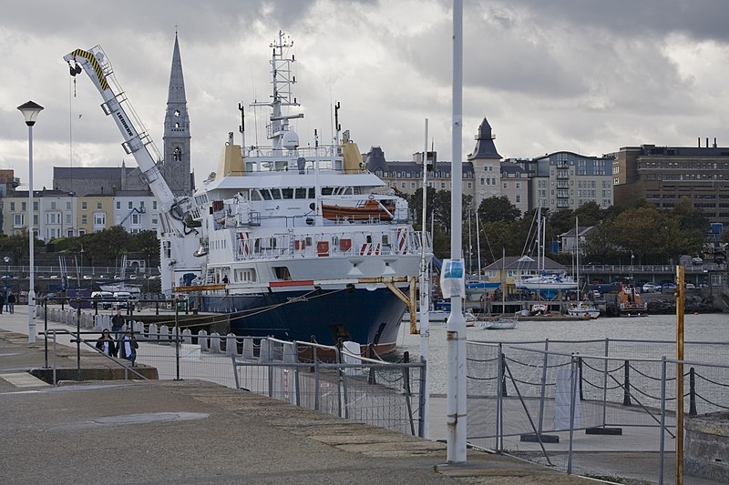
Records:
[[[124,151],[132,155],[141,170],[141,177],[157,198],[161,212],[170,213],[178,220],[183,217],[183,207],[188,197],[175,197],[167,181],[159,171],[162,162],[157,147],[144,129],[139,117],[118,85],[111,63],[101,46],[90,50],[76,49],[63,57],[68,63],[71,76],[81,73],[83,68],[104,99],[101,109],[116,122],[124,143]],[[157,157],[153,157],[152,153]]]

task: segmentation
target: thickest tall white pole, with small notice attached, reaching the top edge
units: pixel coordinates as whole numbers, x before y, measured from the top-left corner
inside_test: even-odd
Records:
[[[463,226],[463,162],[461,143],[463,132],[463,0],[453,2],[453,128],[451,144],[451,259],[462,258]],[[450,298],[447,323],[447,460],[466,461],[466,318],[463,317],[463,297]]]

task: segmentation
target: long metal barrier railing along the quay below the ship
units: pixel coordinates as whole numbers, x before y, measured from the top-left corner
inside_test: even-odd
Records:
[[[80,309],[52,308],[45,315],[77,329],[49,328],[41,335],[55,339],[56,333],[67,334],[77,349],[81,343],[90,345],[77,335],[98,334],[110,327],[108,316]],[[157,369],[159,379],[207,380],[345,419],[424,435],[426,363],[409,362],[407,354],[403,361],[386,362],[374,354],[368,354],[373,359],[363,357],[345,346],[209,334],[204,329],[193,333],[190,328],[180,329],[175,320],[158,325],[128,319],[127,325],[139,344],[136,363]],[[52,353],[54,369],[55,356]],[[80,349],[77,356],[80,379]]]

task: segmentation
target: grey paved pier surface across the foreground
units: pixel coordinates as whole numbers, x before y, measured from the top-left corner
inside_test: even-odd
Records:
[[[27,373],[43,367],[44,346],[42,338],[27,343],[26,311],[16,306],[15,315],[0,316],[4,483],[595,482],[477,450],[468,451],[467,463],[447,464],[442,442],[204,380],[49,386]],[[75,349],[66,355],[59,357],[67,359],[59,367],[75,368]],[[97,359],[94,365],[108,365]],[[87,357],[83,361],[88,365]],[[438,417],[431,426],[440,434],[445,399],[434,399],[431,410]],[[640,453],[596,455],[594,470],[588,470],[591,476],[621,476],[621,470],[651,466]]]

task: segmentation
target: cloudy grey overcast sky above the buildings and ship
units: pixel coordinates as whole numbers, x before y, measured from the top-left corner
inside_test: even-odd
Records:
[[[502,157],[560,150],[601,156],[640,144],[729,146],[726,0],[465,0],[463,156],[486,116]],[[63,56],[101,45],[161,147],[175,29],[198,186],[236,132],[238,103],[270,94],[279,29],[296,56],[302,145],[331,139],[331,106],[364,152],[409,160],[424,144],[451,159],[452,15],[443,0],[0,0],[0,168],[27,183],[16,106],[45,106],[34,128],[34,187],[52,167],[116,167],[133,157],[86,75]],[[247,110],[247,144],[268,114]],[[262,143],[262,135],[259,142]]]

